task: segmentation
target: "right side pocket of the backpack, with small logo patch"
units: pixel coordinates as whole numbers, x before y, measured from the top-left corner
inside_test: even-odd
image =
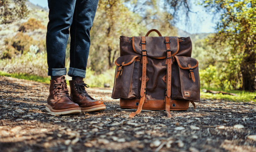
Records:
[[[174,56],[172,98],[200,101],[198,61],[192,57]]]

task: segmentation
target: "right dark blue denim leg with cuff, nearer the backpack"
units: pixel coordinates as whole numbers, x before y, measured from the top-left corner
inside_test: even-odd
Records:
[[[85,78],[90,49],[90,29],[93,25],[97,5],[98,0],[76,0],[73,23],[70,27],[69,76]],[[77,71],[77,73],[72,71]],[[83,73],[80,73],[81,71]]]

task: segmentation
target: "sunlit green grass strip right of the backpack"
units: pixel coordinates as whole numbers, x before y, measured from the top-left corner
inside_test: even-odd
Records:
[[[203,88],[202,88],[203,89]],[[254,101],[256,102],[256,91],[249,92],[249,91],[240,91],[240,90],[221,90],[217,88],[205,88],[208,90],[214,90],[214,91],[224,91],[228,93],[235,93],[237,96],[234,95],[223,95],[223,94],[211,94],[211,93],[204,93],[200,92],[201,99],[217,99],[217,100],[227,100],[227,101]]]

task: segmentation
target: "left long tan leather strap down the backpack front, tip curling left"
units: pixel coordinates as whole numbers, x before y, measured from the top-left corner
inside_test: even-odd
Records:
[[[142,84],[140,90],[140,101],[138,104],[138,109],[136,112],[131,112],[129,118],[133,118],[135,115],[138,115],[142,111],[142,105],[146,100],[146,72],[147,72],[147,51],[146,51],[146,39],[142,37]],[[169,107],[170,108],[170,107]]]

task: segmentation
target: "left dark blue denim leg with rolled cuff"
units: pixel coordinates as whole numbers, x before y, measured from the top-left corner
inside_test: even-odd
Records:
[[[48,0],[49,22],[46,34],[48,75],[66,75],[66,45],[75,6],[76,0]]]

